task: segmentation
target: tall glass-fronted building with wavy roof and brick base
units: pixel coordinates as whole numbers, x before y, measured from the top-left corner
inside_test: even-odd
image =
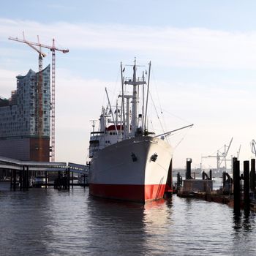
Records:
[[[10,99],[0,97],[0,156],[49,162],[50,65],[16,78]]]

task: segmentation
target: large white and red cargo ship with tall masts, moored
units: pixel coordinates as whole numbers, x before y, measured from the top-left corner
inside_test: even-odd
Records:
[[[136,60],[132,67],[132,78],[127,78],[124,76],[126,67],[121,64],[121,94],[118,95],[119,105],[116,101],[116,110],[110,105],[106,89],[108,106],[102,108],[98,131],[95,131],[93,121],[89,145],[89,193],[146,203],[162,198],[172,189],[173,148],[166,137],[173,131],[160,135],[148,132],[151,62],[148,72],[143,72],[140,78],[136,74]]]

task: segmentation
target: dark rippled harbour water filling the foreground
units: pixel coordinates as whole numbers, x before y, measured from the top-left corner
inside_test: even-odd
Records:
[[[256,216],[180,198],[140,205],[86,187],[10,191],[0,183],[0,255],[256,255]]]

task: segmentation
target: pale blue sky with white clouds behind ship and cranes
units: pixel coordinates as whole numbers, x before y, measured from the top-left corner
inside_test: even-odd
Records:
[[[256,1],[1,1],[0,96],[10,97],[16,75],[37,71],[37,53],[8,37],[69,49],[56,52],[56,161],[86,163],[90,120],[99,118],[121,86],[120,62],[152,63],[154,105],[171,135],[173,167],[216,167],[241,145],[255,157]],[[46,67],[51,53],[43,60]],[[132,75],[132,72],[130,73]],[[151,107],[153,103],[149,103]],[[153,113],[152,113],[153,116]],[[155,115],[156,116],[156,115]],[[154,124],[158,129],[159,124]],[[159,130],[159,132],[162,132]],[[229,163],[227,165],[230,165]]]

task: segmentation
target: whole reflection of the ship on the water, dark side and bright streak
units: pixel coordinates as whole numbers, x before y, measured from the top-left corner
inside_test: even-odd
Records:
[[[90,197],[88,205],[89,223],[94,226],[91,232],[101,241],[98,246],[94,239],[89,239],[91,252],[102,252],[102,243],[110,255],[148,255],[151,250],[161,252],[160,243],[156,243],[155,238],[166,236],[171,218],[170,200],[141,205]]]

